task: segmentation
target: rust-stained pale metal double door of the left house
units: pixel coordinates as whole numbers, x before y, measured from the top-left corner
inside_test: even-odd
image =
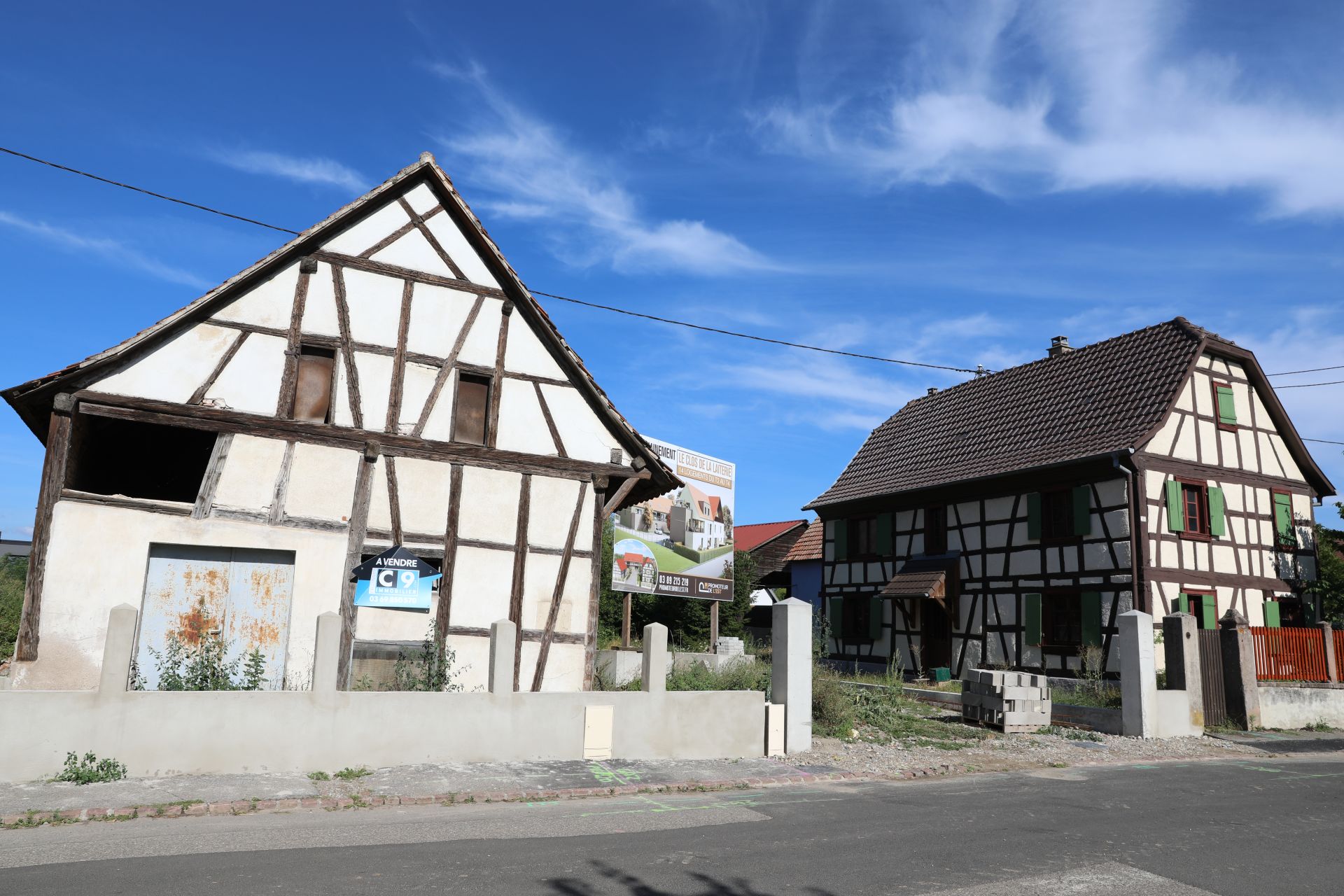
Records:
[[[266,660],[262,686],[280,690],[293,584],[290,551],[151,545],[136,645],[145,688],[159,689],[159,664],[151,650],[163,654],[173,635],[195,645],[203,635],[218,634],[227,645],[228,662],[261,650]]]

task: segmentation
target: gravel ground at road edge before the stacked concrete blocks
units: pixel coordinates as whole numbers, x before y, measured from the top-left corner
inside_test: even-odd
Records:
[[[956,724],[956,723],[952,723]],[[796,764],[836,766],[868,775],[900,776],[902,772],[950,766],[952,771],[1016,771],[1023,768],[1101,766],[1161,759],[1245,759],[1265,752],[1214,737],[1140,740],[1095,735],[1101,740],[1070,740],[1060,735],[1004,735],[988,737],[964,750],[941,750],[900,742],[879,744],[864,740],[813,737],[812,750],[793,754]]]

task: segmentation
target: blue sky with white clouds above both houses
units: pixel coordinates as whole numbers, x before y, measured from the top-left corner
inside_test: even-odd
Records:
[[[538,290],[991,368],[1184,314],[1296,371],[1344,364],[1341,27],[1327,3],[28,4],[0,142],[296,230],[429,149]],[[281,242],[0,157],[0,383]],[[637,427],[738,463],[743,523],[802,516],[960,377],[546,306]],[[1281,398],[1344,441],[1344,386]],[[31,527],[40,465],[4,408],[0,531]]]

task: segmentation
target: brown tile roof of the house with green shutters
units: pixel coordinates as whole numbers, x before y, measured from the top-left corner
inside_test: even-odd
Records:
[[[808,508],[1137,447],[1204,339],[1177,317],[917,398]]]

